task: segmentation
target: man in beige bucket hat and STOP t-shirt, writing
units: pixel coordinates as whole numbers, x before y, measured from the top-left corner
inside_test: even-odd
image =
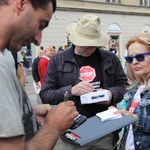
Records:
[[[101,33],[100,18],[97,15],[82,16],[77,24],[67,27],[67,32],[72,46],[51,58],[40,97],[43,103],[59,104],[64,100],[65,91],[68,91],[69,98],[75,102],[79,113],[88,118],[93,117],[122,100],[127,78],[117,56],[98,48],[105,46],[109,38]],[[81,104],[81,95],[98,90],[107,90],[109,99],[101,103]],[[112,150],[118,140],[109,134],[79,147],[65,142],[64,137],[61,137],[64,150]]]

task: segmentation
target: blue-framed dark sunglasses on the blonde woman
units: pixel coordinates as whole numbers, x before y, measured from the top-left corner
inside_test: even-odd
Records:
[[[147,52],[147,53],[140,53],[140,54],[137,54],[137,55],[134,55],[134,56],[126,56],[124,57],[126,62],[129,63],[129,64],[132,64],[133,62],[133,59],[135,58],[138,62],[142,62],[145,60],[145,55],[150,55],[150,52]]]

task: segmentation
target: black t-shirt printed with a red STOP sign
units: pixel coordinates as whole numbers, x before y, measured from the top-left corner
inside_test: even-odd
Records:
[[[103,70],[102,70],[101,58],[98,55],[98,50],[96,50],[89,57],[83,57],[83,56],[76,55],[76,54],[74,55],[75,55],[77,64],[80,67],[81,80],[92,83],[94,86],[94,90],[103,88],[103,73],[102,73]],[[90,75],[93,75],[93,76],[90,77]],[[107,109],[107,106],[99,105],[99,104],[81,105],[80,97],[77,98],[75,104],[79,113],[87,116],[88,118],[94,116],[98,112],[101,112]]]

